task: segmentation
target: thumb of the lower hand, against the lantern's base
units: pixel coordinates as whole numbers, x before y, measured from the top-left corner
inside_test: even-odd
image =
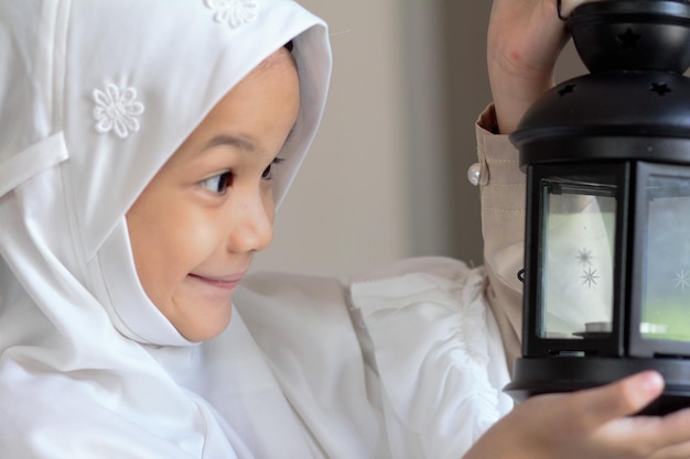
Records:
[[[602,387],[575,393],[579,415],[585,428],[594,428],[614,418],[633,415],[658,397],[664,379],[646,371]]]

